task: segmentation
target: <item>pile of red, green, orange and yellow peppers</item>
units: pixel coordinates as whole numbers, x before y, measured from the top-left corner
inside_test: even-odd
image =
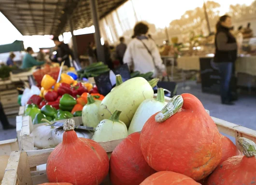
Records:
[[[63,73],[56,83],[50,75],[44,75],[41,94],[31,96],[25,109],[25,116],[31,116],[33,124],[41,123],[42,119],[55,121],[82,116],[89,93],[94,99],[104,98],[96,86],[78,82],[71,76]]]

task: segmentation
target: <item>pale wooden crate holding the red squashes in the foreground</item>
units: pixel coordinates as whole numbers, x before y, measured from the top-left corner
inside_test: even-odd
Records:
[[[236,146],[240,149],[237,140],[239,137],[248,138],[256,142],[256,131],[230,123],[228,121],[212,117],[220,132],[225,133],[236,140]],[[107,153],[111,153],[123,139],[101,142],[100,145]],[[42,165],[47,162],[47,158],[53,148],[43,150],[33,150],[27,152],[15,151],[10,155],[8,165],[2,180],[2,185],[38,185],[46,183],[46,171],[32,171],[37,165]],[[108,177],[102,185],[110,185]]]

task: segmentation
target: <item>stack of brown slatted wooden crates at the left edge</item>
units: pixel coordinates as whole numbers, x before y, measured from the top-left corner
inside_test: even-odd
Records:
[[[4,112],[6,115],[18,114],[19,105],[18,105],[18,91],[7,90],[0,91],[0,101],[2,103]]]

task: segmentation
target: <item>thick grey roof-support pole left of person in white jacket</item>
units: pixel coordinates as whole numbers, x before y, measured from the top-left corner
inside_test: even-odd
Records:
[[[100,25],[99,25],[99,13],[98,13],[98,7],[97,7],[97,0],[90,0],[90,6],[91,6],[93,25],[95,28],[94,37],[95,37],[96,46],[97,46],[97,49],[96,49],[97,58],[98,58],[98,61],[105,63],[104,48],[100,42]]]

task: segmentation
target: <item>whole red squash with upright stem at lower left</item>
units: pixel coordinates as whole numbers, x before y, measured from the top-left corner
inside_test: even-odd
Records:
[[[47,178],[51,183],[100,185],[109,171],[108,155],[95,141],[78,138],[74,126],[73,119],[64,123],[63,141],[47,160]]]

